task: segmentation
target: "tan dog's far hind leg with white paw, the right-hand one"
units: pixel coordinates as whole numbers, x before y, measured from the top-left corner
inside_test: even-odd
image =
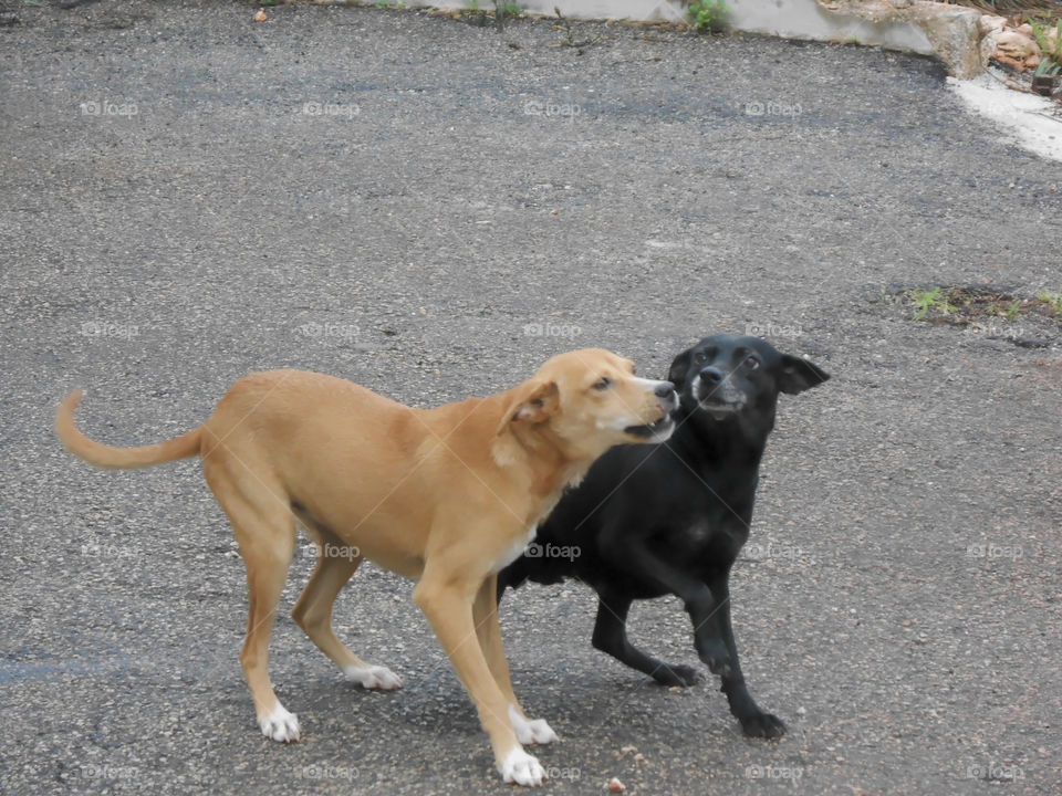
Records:
[[[400,687],[402,679],[397,674],[386,667],[366,663],[335,637],[332,630],[332,604],[362,563],[362,557],[356,547],[344,545],[333,534],[319,528],[315,535],[317,563],[291,611],[291,617],[351,682],[384,691]]]

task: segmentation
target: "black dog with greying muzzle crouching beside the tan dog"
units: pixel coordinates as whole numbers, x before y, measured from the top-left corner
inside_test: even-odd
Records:
[[[782,735],[785,725],[759,709],[741,674],[730,567],[749,536],[778,394],[827,378],[758,337],[712,335],[679,354],[668,374],[681,399],[670,440],[617,446],[601,457],[539,526],[534,545],[499,573],[498,599],[527,579],[584,580],[598,596],[594,647],[660,683],[689,685],[697,680],[691,668],[636,649],[625,627],[633,600],[677,595],[697,654],[721,678],[745,734]]]

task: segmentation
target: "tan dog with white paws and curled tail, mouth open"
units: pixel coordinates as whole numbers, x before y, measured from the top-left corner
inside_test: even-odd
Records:
[[[332,603],[362,558],[417,580],[413,601],[476,703],[506,782],[540,785],[521,744],[556,735],[513,695],[494,606],[498,572],[520,555],[562,490],[607,448],[659,442],[674,428],[673,386],[589,348],[555,356],[488,398],[412,409],[350,381],[300,370],[237,381],[197,429],[158,444],[111,448],[82,434],[81,394],[55,415],[65,448],[97,467],[138,468],[198,453],[247,566],[250,615],[240,651],[262,732],[299,739],[267,669],[269,636],[296,520],[320,548],[292,616],[348,680],[394,689],[332,632]]]

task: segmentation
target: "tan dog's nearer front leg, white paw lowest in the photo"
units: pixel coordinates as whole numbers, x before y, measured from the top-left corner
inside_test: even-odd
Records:
[[[509,723],[506,696],[487,666],[472,621],[472,601],[481,586],[467,588],[452,579],[437,580],[430,568],[413,591],[414,604],[424,611],[454,671],[476,704],[479,723],[490,736],[494,763],[502,778],[518,785],[541,785],[545,772],[523,751]]]

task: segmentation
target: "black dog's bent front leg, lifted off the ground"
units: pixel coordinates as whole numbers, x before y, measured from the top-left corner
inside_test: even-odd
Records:
[[[730,650],[723,642],[718,616],[720,608],[725,606],[718,604],[708,586],[662,561],[641,540],[628,540],[625,546],[603,545],[603,549],[607,549],[614,556],[615,563],[638,578],[683,600],[694,625],[694,647],[697,656],[714,674],[730,674]]]

